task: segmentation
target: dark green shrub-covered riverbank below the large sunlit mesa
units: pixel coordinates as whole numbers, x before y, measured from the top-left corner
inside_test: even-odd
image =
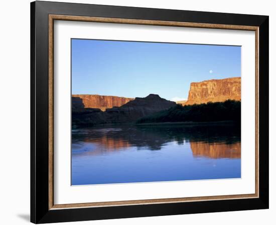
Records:
[[[240,123],[240,101],[226,100],[224,102],[208,102],[184,106],[177,104],[167,110],[142,117],[136,120],[136,123],[213,122],[226,120]]]

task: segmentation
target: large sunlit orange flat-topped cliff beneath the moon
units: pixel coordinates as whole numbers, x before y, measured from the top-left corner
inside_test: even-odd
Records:
[[[228,99],[240,101],[240,81],[240,77],[231,77],[192,82],[188,100],[183,104],[222,102]]]

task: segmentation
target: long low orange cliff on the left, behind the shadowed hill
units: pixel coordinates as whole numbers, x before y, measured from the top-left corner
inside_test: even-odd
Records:
[[[133,99],[98,94],[72,94],[72,108],[99,108],[105,111],[106,108],[118,107]]]

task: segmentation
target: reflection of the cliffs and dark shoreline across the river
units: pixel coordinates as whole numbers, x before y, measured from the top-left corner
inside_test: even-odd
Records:
[[[190,142],[195,157],[240,158],[240,129],[231,125],[98,127],[72,132],[72,143],[96,145],[93,149],[87,147],[85,152],[74,152],[82,155],[127,150],[129,147],[161,150],[173,141],[179,145]]]

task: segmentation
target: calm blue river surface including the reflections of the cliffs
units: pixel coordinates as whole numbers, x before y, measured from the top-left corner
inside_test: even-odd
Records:
[[[101,126],[72,130],[72,185],[239,178],[231,125]]]

